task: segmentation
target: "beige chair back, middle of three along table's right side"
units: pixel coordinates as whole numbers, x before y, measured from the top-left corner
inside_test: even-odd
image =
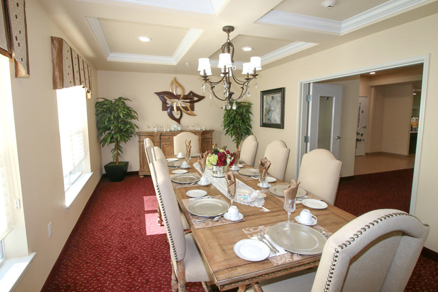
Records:
[[[275,140],[266,146],[265,157],[271,161],[271,168],[268,174],[278,180],[284,181],[286,177],[287,162],[289,160],[290,149],[281,140]]]

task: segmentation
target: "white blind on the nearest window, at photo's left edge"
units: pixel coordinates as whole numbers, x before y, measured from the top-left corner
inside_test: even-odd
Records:
[[[0,56],[0,240],[13,228],[11,201],[15,197],[15,189],[10,161],[16,156],[11,147],[17,146],[12,110],[9,59]]]

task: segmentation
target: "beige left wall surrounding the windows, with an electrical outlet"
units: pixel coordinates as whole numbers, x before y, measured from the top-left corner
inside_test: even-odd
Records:
[[[15,291],[39,291],[57,260],[86,201],[101,177],[101,149],[96,139],[94,103],[86,101],[91,169],[94,172],[65,211],[56,91],[52,89],[50,36],[65,34],[36,0],[26,1],[30,78],[15,78],[11,65],[12,95],[21,176],[22,206],[28,252],[36,252]],[[75,48],[76,49],[76,48]],[[98,96],[93,70],[93,94]],[[53,235],[47,225],[52,222]]]

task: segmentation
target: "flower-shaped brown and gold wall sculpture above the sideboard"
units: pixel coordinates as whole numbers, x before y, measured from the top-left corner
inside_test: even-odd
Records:
[[[180,89],[180,94],[177,94],[177,89]],[[190,91],[184,95],[184,88],[178,83],[177,79],[173,77],[170,82],[170,91],[156,92],[162,102],[162,110],[167,111],[167,115],[174,121],[181,124],[183,112],[188,115],[196,115],[195,103],[204,99],[204,96],[197,95]]]

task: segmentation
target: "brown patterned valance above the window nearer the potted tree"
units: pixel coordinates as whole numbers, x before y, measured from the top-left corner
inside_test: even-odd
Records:
[[[91,98],[91,66],[61,37],[52,36],[53,89],[83,86]]]

